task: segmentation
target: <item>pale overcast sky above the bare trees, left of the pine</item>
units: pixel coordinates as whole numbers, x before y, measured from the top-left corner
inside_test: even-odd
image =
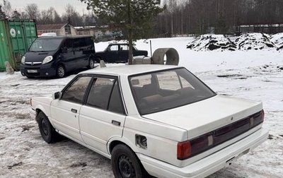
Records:
[[[38,8],[41,10],[47,10],[50,6],[54,7],[56,11],[62,15],[65,11],[65,6],[67,4],[71,4],[71,6],[74,6],[76,8],[76,11],[80,14],[83,13],[83,11],[86,13],[86,4],[83,4],[79,0],[8,0],[11,3],[11,8],[14,10],[15,8],[17,11],[24,11],[25,6],[28,4],[37,4]],[[2,3],[2,0],[0,0]]]

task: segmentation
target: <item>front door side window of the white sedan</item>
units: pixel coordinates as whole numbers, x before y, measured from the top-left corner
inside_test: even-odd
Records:
[[[82,76],[77,78],[69,87],[62,93],[62,100],[69,102],[82,103],[83,96],[86,93],[88,83],[91,81],[91,76]]]

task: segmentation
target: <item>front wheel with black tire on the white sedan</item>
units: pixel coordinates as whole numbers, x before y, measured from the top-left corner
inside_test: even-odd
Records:
[[[54,127],[50,124],[50,121],[43,112],[40,112],[36,116],[40,134],[44,141],[47,143],[54,143],[59,138],[59,134],[55,131]]]

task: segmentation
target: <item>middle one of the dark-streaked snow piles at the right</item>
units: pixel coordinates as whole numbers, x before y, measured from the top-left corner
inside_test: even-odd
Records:
[[[275,44],[270,41],[270,37],[264,33],[247,33],[238,37],[235,41],[238,49],[250,50],[250,49],[269,49],[275,47]]]

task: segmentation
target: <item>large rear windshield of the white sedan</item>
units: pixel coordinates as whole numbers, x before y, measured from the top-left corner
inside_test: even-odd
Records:
[[[185,68],[129,76],[139,114],[188,105],[216,95]]]

